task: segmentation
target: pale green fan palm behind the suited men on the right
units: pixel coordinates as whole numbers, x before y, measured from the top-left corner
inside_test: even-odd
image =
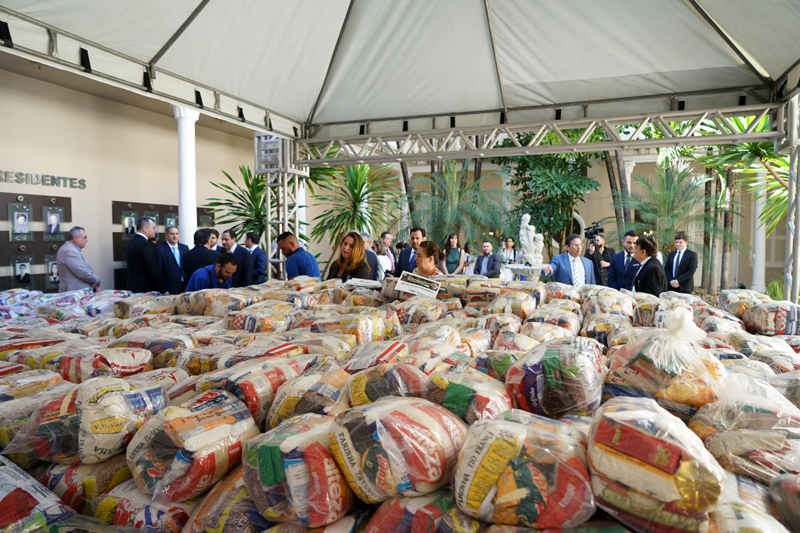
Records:
[[[689,240],[702,240],[703,232],[722,237],[739,250],[747,243],[738,235],[720,228],[705,209],[706,174],[692,175],[687,162],[675,162],[656,167],[656,179],[642,174],[633,181],[643,191],[620,195],[620,203],[636,211],[637,221],[629,229],[640,235],[652,235],[659,249],[671,250],[676,233],[686,233]],[[717,213],[727,212],[718,207]],[[735,211],[730,213],[738,215]],[[699,238],[698,238],[699,237]]]

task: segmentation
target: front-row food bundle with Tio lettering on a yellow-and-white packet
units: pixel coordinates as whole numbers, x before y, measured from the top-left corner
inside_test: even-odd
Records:
[[[475,423],[453,475],[458,507],[483,521],[536,530],[587,521],[596,507],[585,452],[573,435],[566,424],[527,413]]]

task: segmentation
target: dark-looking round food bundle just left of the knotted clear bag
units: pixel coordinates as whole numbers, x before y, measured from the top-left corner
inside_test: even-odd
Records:
[[[506,372],[506,387],[517,405],[560,418],[584,415],[600,406],[606,374],[597,341],[568,337],[540,344]]]

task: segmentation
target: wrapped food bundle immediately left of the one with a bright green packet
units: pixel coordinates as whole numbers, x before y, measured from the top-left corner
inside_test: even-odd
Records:
[[[258,433],[242,402],[208,391],[148,420],[128,446],[128,466],[154,500],[187,501],[237,467],[242,445]]]

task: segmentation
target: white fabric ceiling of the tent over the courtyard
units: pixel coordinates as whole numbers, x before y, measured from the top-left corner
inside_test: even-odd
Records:
[[[800,59],[798,0],[695,1],[765,77]],[[200,4],[0,0],[145,63]],[[627,97],[751,87],[769,98],[689,0],[210,0],[157,68],[298,123],[392,118],[375,129],[394,131],[420,116],[497,122],[503,96],[509,122],[526,108]]]

